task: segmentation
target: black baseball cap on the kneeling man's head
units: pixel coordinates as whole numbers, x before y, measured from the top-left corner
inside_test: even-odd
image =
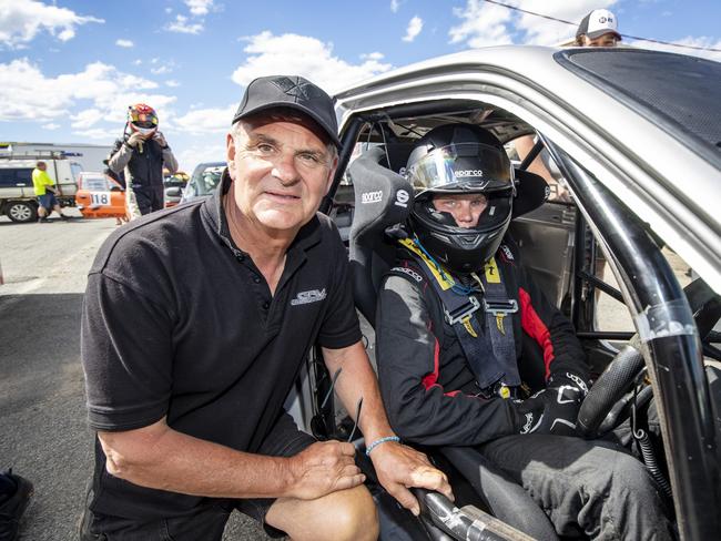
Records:
[[[288,108],[313,119],[341,147],[333,99],[319,86],[299,75],[270,75],[251,81],[237,106],[233,124],[261,111]]]

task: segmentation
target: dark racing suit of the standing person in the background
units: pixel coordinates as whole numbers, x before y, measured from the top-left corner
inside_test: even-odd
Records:
[[[135,193],[141,214],[163,208],[163,165],[171,173],[177,171],[177,161],[170,146],[162,147],[148,140],[135,147],[116,140],[108,166],[116,174],[124,172],[125,183]]]

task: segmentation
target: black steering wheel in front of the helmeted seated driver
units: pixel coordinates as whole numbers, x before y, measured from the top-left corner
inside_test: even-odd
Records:
[[[683,288],[701,340],[721,318],[721,297],[701,278]],[[578,412],[576,431],[583,438],[597,438],[618,426],[621,414],[628,412],[624,395],[646,366],[638,334],[616,355],[590,388]],[[650,388],[649,388],[650,389]],[[650,390],[647,392],[650,399]]]

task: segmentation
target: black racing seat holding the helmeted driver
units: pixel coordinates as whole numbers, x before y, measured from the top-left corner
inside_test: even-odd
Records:
[[[395,261],[398,231],[413,205],[413,187],[386,166],[392,160],[384,146],[368,150],[355,160],[347,174],[355,188],[355,215],[349,251],[356,307],[375,326],[377,290]],[[519,200],[514,216],[544,203],[546,182],[538,175],[521,173]],[[518,211],[516,211],[518,208]],[[558,539],[550,521],[525,490],[474,448],[439,448],[470,483],[490,512],[501,521],[540,540]]]

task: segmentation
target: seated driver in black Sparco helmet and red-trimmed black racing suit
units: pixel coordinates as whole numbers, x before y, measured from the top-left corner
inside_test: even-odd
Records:
[[[414,147],[406,175],[416,197],[376,313],[390,425],[406,441],[475,446],[559,534],[672,539],[643,465],[620,446],[572,437],[589,368],[506,236],[516,174],[530,175],[475,125],[435,127]]]

